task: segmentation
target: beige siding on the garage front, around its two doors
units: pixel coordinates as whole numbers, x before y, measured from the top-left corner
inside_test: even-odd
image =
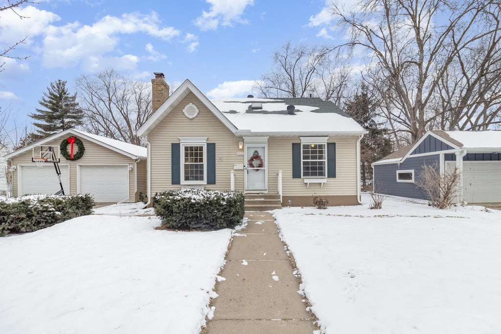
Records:
[[[69,165],[69,173],[70,173],[70,195],[77,194],[77,165],[127,165],[134,164],[134,160],[124,156],[118,152],[115,152],[109,148],[98,145],[94,142],[88,141],[82,137],[79,137],[82,140],[82,143],[85,147],[85,153],[82,158],[70,161],[66,160],[63,155],[61,155],[61,164]],[[57,138],[51,142],[45,143],[45,146],[53,146],[59,149],[59,145],[61,141],[63,141],[63,137]],[[69,150],[69,146],[68,146]],[[77,146],[74,146],[74,150],[76,152]],[[24,152],[13,158],[13,165],[19,164],[35,164],[32,162],[32,150]],[[43,168],[54,168],[53,164],[47,163]],[[55,171],[54,171],[55,173]],[[15,172],[13,175],[13,195],[18,196],[18,173]],[[129,201],[134,201],[134,172],[129,171]]]

